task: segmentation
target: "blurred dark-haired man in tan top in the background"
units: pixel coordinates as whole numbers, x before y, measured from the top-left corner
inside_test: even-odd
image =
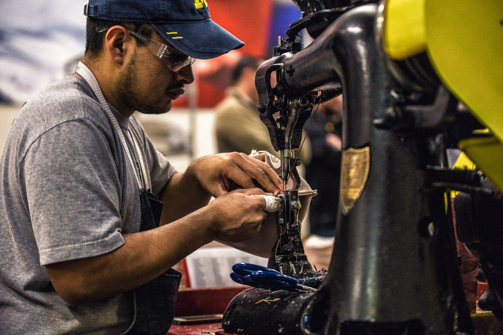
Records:
[[[218,152],[250,153],[255,149],[279,155],[257,109],[259,93],[255,87],[255,74],[262,62],[260,58],[242,56],[232,70],[232,85],[225,99],[216,106],[214,133]],[[299,154],[301,162],[309,162],[310,154],[307,140]]]

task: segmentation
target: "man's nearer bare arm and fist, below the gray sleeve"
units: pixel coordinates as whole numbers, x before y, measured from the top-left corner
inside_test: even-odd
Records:
[[[49,264],[47,274],[61,298],[72,305],[129,291],[215,239],[240,242],[256,236],[268,215],[266,200],[256,194],[269,193],[260,188],[226,193],[169,225],[124,234],[124,245],[114,251]]]

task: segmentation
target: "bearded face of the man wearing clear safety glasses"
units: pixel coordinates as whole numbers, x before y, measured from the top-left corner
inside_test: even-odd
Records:
[[[166,44],[157,33],[152,39]],[[184,93],[184,86],[194,81],[190,65],[174,72],[143,45],[136,45],[126,62],[116,94],[124,107],[140,113],[166,113],[172,108],[172,100]]]

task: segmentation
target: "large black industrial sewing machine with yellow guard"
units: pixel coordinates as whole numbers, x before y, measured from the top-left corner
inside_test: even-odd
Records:
[[[280,195],[269,267],[314,290],[245,290],[227,307],[225,332],[475,333],[447,205],[451,190],[468,199],[458,236],[478,257],[491,288],[488,305],[501,319],[503,3],[294,3],[302,19],[259,68],[256,86],[282,178],[296,181]],[[304,28],[314,39],[306,48],[299,43]],[[324,273],[312,269],[300,242],[292,150],[313,107],[339,94],[340,217]],[[462,149],[477,171],[450,169],[449,148]]]

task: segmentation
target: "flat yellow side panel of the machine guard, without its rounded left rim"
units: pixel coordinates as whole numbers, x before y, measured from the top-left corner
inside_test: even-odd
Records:
[[[503,190],[503,2],[427,0],[425,19],[437,75],[494,135],[460,149]]]

